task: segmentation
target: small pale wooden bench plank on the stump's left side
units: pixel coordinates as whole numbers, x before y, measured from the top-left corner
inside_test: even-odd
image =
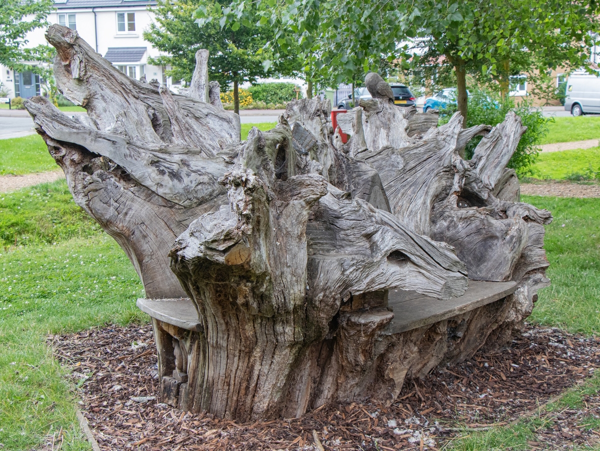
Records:
[[[202,323],[190,298],[137,300],[137,307],[152,318],[176,325],[187,330],[200,332]]]

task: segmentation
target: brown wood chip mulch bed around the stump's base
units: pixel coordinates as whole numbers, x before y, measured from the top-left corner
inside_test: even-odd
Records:
[[[398,401],[326,405],[300,419],[235,423],[191,414],[158,399],[151,326],[106,326],[51,336],[73,371],[80,408],[102,450],[396,450],[439,449],[459,434],[537,415],[541,405],[600,368],[600,337],[526,327],[502,353],[478,353],[460,365],[409,381]],[[600,396],[586,407],[547,415],[532,449],[597,446]],[[582,425],[582,426],[578,426]]]

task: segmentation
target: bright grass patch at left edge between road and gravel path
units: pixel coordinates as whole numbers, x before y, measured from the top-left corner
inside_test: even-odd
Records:
[[[58,169],[40,135],[0,139],[0,175],[22,175]]]

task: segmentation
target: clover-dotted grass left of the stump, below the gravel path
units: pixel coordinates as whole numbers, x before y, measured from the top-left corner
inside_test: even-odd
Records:
[[[147,321],[135,305],[142,285],[64,180],[0,195],[0,218],[0,447],[29,451],[63,428],[62,450],[89,449],[46,336]]]

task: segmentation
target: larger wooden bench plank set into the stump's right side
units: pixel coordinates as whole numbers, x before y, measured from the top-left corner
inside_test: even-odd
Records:
[[[388,307],[394,312],[394,319],[386,327],[385,333],[405,332],[469,312],[502,299],[516,289],[517,283],[512,281],[469,280],[469,288],[462,296],[448,300],[439,300],[414,291],[391,289],[388,294]]]

